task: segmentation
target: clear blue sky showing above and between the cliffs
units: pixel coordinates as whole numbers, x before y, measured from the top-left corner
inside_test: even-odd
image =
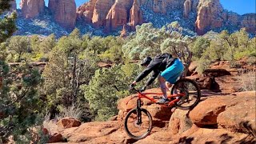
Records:
[[[19,8],[19,2],[21,0],[17,0],[17,5]],[[49,0],[45,0],[46,5],[48,5]],[[82,5],[82,3],[87,2],[89,0],[75,0],[77,6]],[[222,6],[226,10],[234,11],[238,14],[246,14],[246,13],[256,13],[255,12],[255,0],[220,0]]]

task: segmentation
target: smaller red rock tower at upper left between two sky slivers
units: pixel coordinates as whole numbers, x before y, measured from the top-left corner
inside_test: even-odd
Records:
[[[22,17],[24,18],[38,17],[45,10],[44,0],[22,0],[20,6],[22,8]]]

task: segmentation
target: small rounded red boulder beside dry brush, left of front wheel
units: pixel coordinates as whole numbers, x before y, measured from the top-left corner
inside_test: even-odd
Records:
[[[75,118],[62,118],[57,122],[57,125],[62,128],[70,128],[70,127],[77,127],[81,125],[81,122]]]

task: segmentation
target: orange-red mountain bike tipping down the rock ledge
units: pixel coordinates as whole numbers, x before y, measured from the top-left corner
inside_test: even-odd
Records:
[[[141,98],[147,98],[151,102],[157,103],[157,95],[162,95],[161,93],[143,93],[143,90],[133,90],[137,92],[137,106],[130,110],[126,114],[125,118],[125,130],[130,138],[142,139],[146,138],[152,130],[152,116],[150,112],[142,108]],[[148,95],[155,95],[150,98]],[[174,83],[174,86],[170,90],[170,95],[168,95],[169,102],[161,104],[162,106],[177,107],[182,110],[191,110],[194,106],[197,106],[201,98],[201,90],[196,82],[191,79],[182,78]]]

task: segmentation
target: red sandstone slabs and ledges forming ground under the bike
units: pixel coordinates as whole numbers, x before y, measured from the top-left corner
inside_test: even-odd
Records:
[[[238,81],[239,69],[230,69],[229,65],[229,62],[216,62],[211,69],[206,70],[203,77],[191,74],[190,78],[194,78],[204,89],[201,102],[193,110],[176,109],[171,112],[168,107],[143,100],[142,107],[150,111],[154,128],[142,140],[129,138],[123,126],[127,112],[136,106],[137,99],[131,95],[118,102],[119,113],[108,122],[87,122],[80,125],[75,119],[62,119],[58,122],[58,129],[51,132],[49,142],[255,143],[256,91],[238,92],[242,89]],[[255,70],[255,66],[246,68]],[[191,69],[194,69],[193,65]],[[160,90],[151,89],[146,92]]]

